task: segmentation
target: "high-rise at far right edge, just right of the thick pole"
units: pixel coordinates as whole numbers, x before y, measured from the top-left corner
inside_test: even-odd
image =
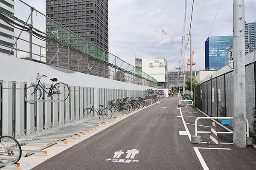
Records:
[[[253,48],[255,48],[255,29],[256,29],[256,23],[246,23],[245,21],[244,23],[245,54],[249,54],[253,52]]]

